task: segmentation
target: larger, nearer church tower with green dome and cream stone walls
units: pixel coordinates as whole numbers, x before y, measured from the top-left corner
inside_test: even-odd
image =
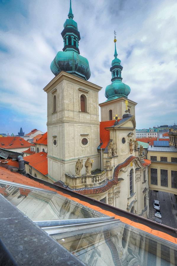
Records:
[[[75,174],[75,164],[89,157],[92,170],[100,168],[100,122],[98,92],[89,81],[88,60],[80,55],[80,33],[73,20],[72,6],[61,32],[64,48],[51,63],[53,80],[44,88],[47,93],[48,177],[65,181],[65,173]],[[85,174],[85,167],[81,175]]]

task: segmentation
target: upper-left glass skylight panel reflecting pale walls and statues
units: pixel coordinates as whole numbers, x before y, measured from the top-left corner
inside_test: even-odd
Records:
[[[0,182],[0,193],[33,221],[105,217],[56,192]]]

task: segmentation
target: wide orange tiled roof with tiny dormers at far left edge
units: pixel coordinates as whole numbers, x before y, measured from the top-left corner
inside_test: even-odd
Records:
[[[28,148],[31,144],[21,137],[1,137],[0,148],[3,149],[17,149]]]

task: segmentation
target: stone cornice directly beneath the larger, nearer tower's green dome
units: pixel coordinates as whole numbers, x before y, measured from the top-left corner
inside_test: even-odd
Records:
[[[77,85],[80,85],[81,87],[87,87],[88,89],[92,89],[95,91],[100,91],[102,87],[91,83],[87,80],[81,79],[77,76],[74,76],[72,74],[69,74],[65,71],[61,71],[56,77],[54,77],[47,85],[43,88],[43,90],[48,93],[53,87],[59,84],[62,80],[68,80],[70,82],[74,82]],[[81,88],[82,89],[82,88]]]

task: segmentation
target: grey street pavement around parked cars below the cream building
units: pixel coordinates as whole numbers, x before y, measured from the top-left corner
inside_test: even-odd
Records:
[[[150,211],[149,218],[150,220],[154,220],[154,212],[153,208],[153,200],[160,201],[160,211],[162,215],[162,223],[164,225],[177,228],[177,200],[173,194],[166,192],[155,192],[150,190]]]

